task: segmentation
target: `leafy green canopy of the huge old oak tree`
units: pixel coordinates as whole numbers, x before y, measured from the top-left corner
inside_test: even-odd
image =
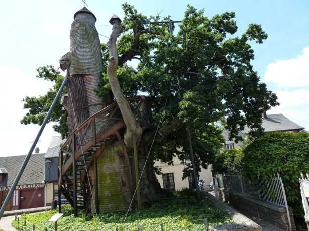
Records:
[[[154,159],[169,160],[177,155],[185,163],[189,153],[188,128],[196,165],[203,168],[223,143],[220,122],[225,121],[231,139],[241,139],[237,135],[245,125],[252,136],[262,133],[262,111],[278,103],[251,65],[251,41],[262,43],[267,38],[261,25],[250,24],[241,36],[235,36],[235,13],[208,18],[204,10],[188,5],[179,30],[173,25],[172,35],[167,23],[151,24],[148,28],[149,22],[168,21],[170,16],[146,17],[132,5],[122,6],[125,18],[117,43],[117,76],[125,96],[145,95],[150,102],[153,129],[147,132],[154,134],[159,127],[160,134],[152,149]],[[109,51],[106,44],[101,47],[107,67]],[[132,59],[138,60],[136,68],[127,64]],[[23,124],[43,122],[63,78],[51,66],[38,71],[37,77],[56,84],[44,96],[24,98],[24,108],[30,110],[22,119]],[[97,94],[111,93],[106,72],[102,73],[102,80]],[[58,123],[54,128],[64,137],[68,135],[66,116],[59,103],[50,119]],[[190,168],[188,164],[187,173]]]

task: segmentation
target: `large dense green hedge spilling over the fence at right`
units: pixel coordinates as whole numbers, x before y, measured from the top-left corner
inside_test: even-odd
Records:
[[[280,174],[288,201],[296,216],[303,216],[299,191],[300,173],[309,172],[309,134],[266,133],[244,150],[243,173],[248,177]]]

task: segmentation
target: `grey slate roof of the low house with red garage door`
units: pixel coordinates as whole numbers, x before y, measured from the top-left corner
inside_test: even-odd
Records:
[[[31,155],[18,185],[41,183],[44,180],[44,155],[44,153]],[[13,184],[25,158],[26,155],[0,157],[0,168],[8,172],[0,187]]]

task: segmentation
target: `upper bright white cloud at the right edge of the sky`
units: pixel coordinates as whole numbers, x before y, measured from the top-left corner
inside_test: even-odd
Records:
[[[309,86],[309,47],[297,58],[279,60],[267,66],[264,82],[279,87]]]

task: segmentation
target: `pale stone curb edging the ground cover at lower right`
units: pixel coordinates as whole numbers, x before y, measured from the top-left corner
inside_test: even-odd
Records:
[[[217,207],[219,207],[222,211],[225,211],[228,213],[228,215],[231,217],[231,219],[235,222],[233,224],[220,224],[215,225],[214,227],[211,227],[211,230],[214,231],[226,231],[226,230],[252,230],[252,231],[261,231],[262,227],[258,225],[257,223],[250,220],[248,217],[244,216],[243,214],[236,211],[231,206],[223,203],[215,196],[211,195],[208,192],[205,192],[206,197],[213,202]]]

